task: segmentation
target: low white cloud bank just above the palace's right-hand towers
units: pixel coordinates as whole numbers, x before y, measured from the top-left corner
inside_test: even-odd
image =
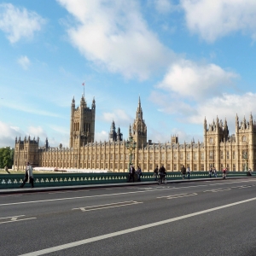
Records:
[[[227,119],[230,132],[234,133],[236,113],[240,120],[244,116],[248,120],[250,113],[254,113],[254,118],[256,119],[256,94],[252,92],[242,95],[223,93],[221,96],[213,96],[211,99],[201,100],[193,104],[190,102],[172,101],[170,100],[170,96],[160,95],[158,92],[154,92],[151,95],[152,101],[154,101],[155,96],[161,97],[163,100],[160,102],[155,101],[161,104],[161,111],[177,114],[177,119],[187,125],[203,125],[205,117],[209,124],[212,123],[212,119],[216,119],[218,116],[219,119]],[[170,104],[166,104],[165,102],[170,102]]]

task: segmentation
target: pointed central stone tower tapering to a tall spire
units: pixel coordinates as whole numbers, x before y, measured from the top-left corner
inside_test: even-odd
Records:
[[[131,133],[131,128],[130,128]],[[141,99],[139,97],[136,119],[132,125],[132,134],[130,136],[133,137],[134,141],[137,143],[137,147],[141,148],[142,145],[147,144],[147,125],[143,120],[143,109],[141,106]]]

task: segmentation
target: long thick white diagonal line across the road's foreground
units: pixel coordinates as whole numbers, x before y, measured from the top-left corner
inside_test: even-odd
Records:
[[[256,197],[253,197],[251,199],[247,199],[247,200],[244,200],[244,201],[237,201],[235,203],[231,203],[231,204],[224,205],[224,206],[221,206],[221,207],[214,207],[214,208],[210,208],[210,209],[203,210],[203,211],[200,211],[200,212],[189,213],[189,214],[179,216],[179,217],[176,217],[176,218],[168,218],[166,220],[154,222],[154,223],[151,223],[151,224],[144,224],[142,226],[137,226],[135,228],[131,228],[131,229],[127,229],[127,230],[120,230],[120,231],[109,233],[109,234],[102,235],[102,236],[95,236],[95,237],[87,238],[87,239],[80,240],[80,241],[73,241],[73,242],[69,242],[69,243],[66,243],[66,244],[62,244],[60,246],[49,247],[49,248],[39,250],[39,251],[35,251],[35,252],[32,252],[32,253],[21,254],[20,256],[37,256],[37,255],[43,255],[43,254],[46,254],[46,253],[54,253],[54,252],[61,251],[61,250],[67,249],[67,248],[84,245],[84,244],[87,244],[87,243],[90,243],[90,242],[93,242],[93,241],[101,241],[101,240],[108,239],[108,238],[114,237],[114,236],[121,236],[121,235],[129,234],[129,233],[132,233],[132,232],[136,232],[136,231],[139,231],[139,230],[145,230],[145,229],[152,228],[152,227],[158,227],[160,225],[169,224],[169,223],[172,223],[172,222],[175,222],[177,220],[184,219],[184,218],[195,217],[195,216],[207,213],[207,212],[214,212],[214,211],[218,211],[218,210],[221,210],[221,209],[224,209],[224,208],[227,208],[227,207],[234,207],[234,206],[237,206],[237,205],[249,202],[249,201],[255,201],[255,200],[256,200]]]

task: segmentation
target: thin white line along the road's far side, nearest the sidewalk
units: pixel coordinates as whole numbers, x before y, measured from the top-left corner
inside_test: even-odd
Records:
[[[241,181],[240,183],[250,182],[250,181]],[[238,183],[238,182],[234,182]],[[219,183],[224,184],[224,183]],[[229,183],[230,184],[230,183]],[[73,199],[82,199],[82,198],[93,198],[93,197],[103,197],[103,196],[112,196],[112,195],[128,195],[128,194],[137,194],[137,193],[147,193],[147,192],[155,192],[160,190],[171,190],[171,189],[189,189],[189,188],[197,188],[197,187],[206,187],[208,185],[197,185],[197,186],[188,186],[188,187],[174,187],[174,188],[164,188],[160,189],[151,189],[151,190],[141,190],[141,191],[131,191],[131,192],[122,192],[122,193],[113,193],[113,194],[104,194],[104,195],[84,195],[84,196],[77,196],[77,197],[67,197],[67,198],[56,198],[56,199],[48,199],[48,200],[40,200],[40,201],[21,201],[21,202],[14,202],[14,203],[6,203],[0,204],[0,207],[3,206],[11,206],[11,205],[21,205],[21,204],[31,204],[31,203],[39,203],[39,202],[46,202],[46,201],[65,201],[65,200],[73,200]],[[129,189],[129,188],[127,188]]]

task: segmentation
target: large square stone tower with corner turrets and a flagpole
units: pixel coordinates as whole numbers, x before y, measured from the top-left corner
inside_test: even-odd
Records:
[[[91,108],[87,107],[84,95],[80,106],[75,108],[75,100],[71,103],[70,138],[69,147],[78,148],[86,143],[93,143],[95,136],[96,102],[93,98]]]

